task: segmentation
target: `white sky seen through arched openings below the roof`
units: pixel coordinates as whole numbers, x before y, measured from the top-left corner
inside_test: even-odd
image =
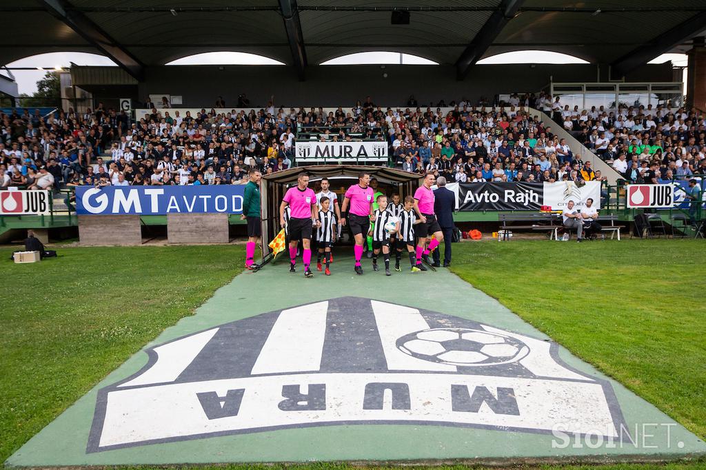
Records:
[[[349,54],[336,59],[324,62],[322,65],[345,65],[345,64],[429,64],[436,62],[424,59],[423,57],[412,56],[410,54],[399,54],[397,52],[359,52]],[[674,66],[686,66],[686,54],[662,54],[650,61],[650,64],[661,64],[671,60]],[[44,69],[56,67],[68,67],[71,62],[76,65],[92,66],[115,66],[107,57],[97,54],[87,54],[85,52],[50,52],[37,56],[27,57],[7,64],[8,67],[42,67]],[[282,65],[280,61],[269,59],[268,57],[246,54],[244,52],[206,52],[194,56],[184,57],[167,65]],[[577,57],[559,54],[557,52],[546,51],[518,51],[505,52],[496,56],[482,59],[478,64],[587,64],[586,61]],[[37,80],[44,76],[44,71],[12,71],[15,76],[20,93],[32,95],[37,91]],[[686,80],[686,73],[684,74]],[[685,83],[686,87],[686,83]]]

